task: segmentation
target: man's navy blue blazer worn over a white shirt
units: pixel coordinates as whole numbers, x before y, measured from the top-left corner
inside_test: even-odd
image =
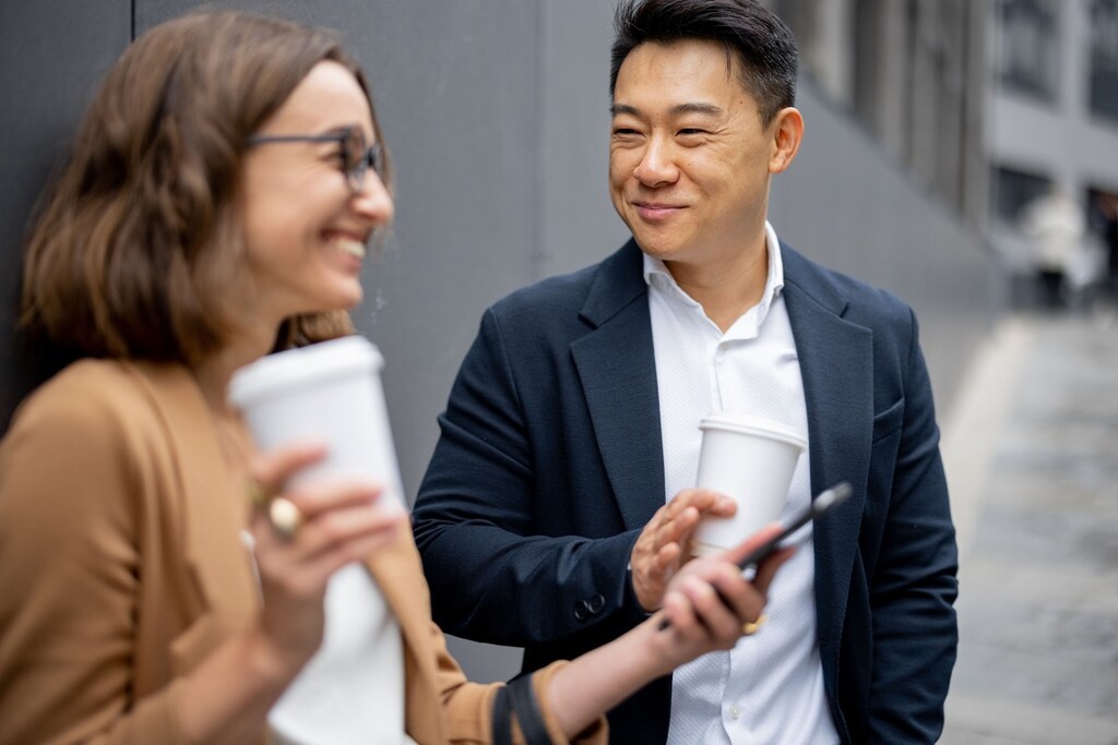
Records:
[[[812,490],[854,496],[815,526],[818,647],[844,743],[932,743],[955,662],[955,531],[911,309],[781,245]],[[525,670],[645,614],[626,565],[664,503],[647,286],[631,240],[485,312],[439,417],[414,510],[435,620],[524,648]],[[609,715],[663,743],[663,678]]]

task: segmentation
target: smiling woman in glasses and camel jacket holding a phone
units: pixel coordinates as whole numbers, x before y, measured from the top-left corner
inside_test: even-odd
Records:
[[[199,13],[111,71],[26,259],[25,325],[83,359],[0,446],[0,742],[266,739],[321,642],[328,580],[358,560],[400,627],[407,734],[490,741],[501,686],[447,655],[406,519],[360,485],[285,490],[321,448],[254,452],[226,399],[271,350],[352,331],[366,243],[392,217],[386,155],[364,77],[318,31]],[[259,490],[301,526],[269,524]],[[692,562],[648,622],[537,672],[548,736],[603,742],[627,694],[732,646],[786,556],[754,584]]]

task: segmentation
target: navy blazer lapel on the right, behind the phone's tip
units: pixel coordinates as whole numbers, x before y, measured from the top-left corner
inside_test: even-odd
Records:
[[[814,526],[821,651],[842,633],[865,505],[873,433],[873,334],[844,321],[846,299],[815,266],[781,246],[785,302],[796,340],[811,449],[812,493],[850,481],[845,507]],[[830,647],[837,653],[837,644]]]

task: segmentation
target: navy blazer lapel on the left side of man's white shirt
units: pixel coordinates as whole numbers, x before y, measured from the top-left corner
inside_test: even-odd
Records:
[[[570,347],[626,529],[643,527],[664,504],[656,361],[642,266],[632,240],[601,264],[581,311],[595,329]]]

